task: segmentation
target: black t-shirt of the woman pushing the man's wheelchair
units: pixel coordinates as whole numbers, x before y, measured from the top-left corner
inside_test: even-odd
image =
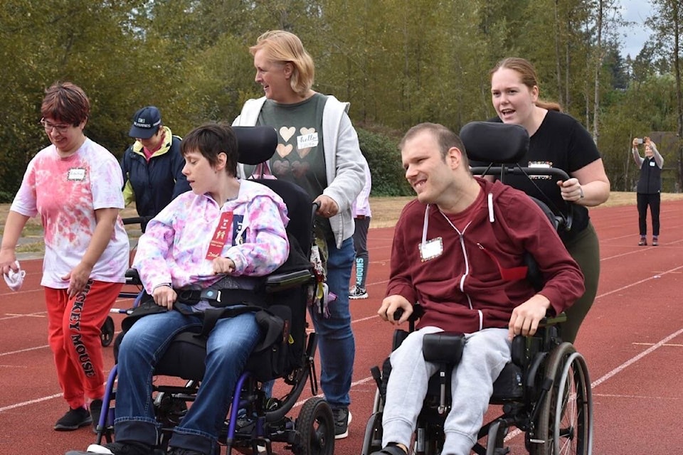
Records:
[[[489,121],[501,122],[498,117]],[[586,128],[568,114],[549,110],[539,129],[529,138],[529,151],[519,161],[519,166],[548,165],[560,168],[571,176],[574,171],[597,159],[600,159],[600,152]],[[472,161],[470,165],[488,166],[489,163]],[[526,176],[507,175],[504,183],[542,200],[555,213],[567,213],[567,204],[562,199],[555,178],[531,178],[532,181]],[[571,240],[588,226],[588,209],[573,203],[569,207],[572,210],[572,227],[571,232],[559,232],[563,242]]]

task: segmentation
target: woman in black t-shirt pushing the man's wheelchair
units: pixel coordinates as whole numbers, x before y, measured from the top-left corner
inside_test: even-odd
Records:
[[[541,200],[550,198],[555,208],[565,201],[571,206],[571,231],[561,232],[564,245],[578,262],[586,279],[586,292],[567,311],[562,327],[564,341],[573,342],[581,322],[598,291],[600,250],[586,207],[604,203],[610,181],[595,142],[573,117],[563,114],[557,103],[539,100],[536,70],[523,58],[505,58],[491,70],[491,95],[498,122],[519,124],[529,132],[529,151],[521,166],[561,168],[570,178],[554,183],[525,176],[506,177],[505,183]],[[545,196],[539,195],[539,188]]]

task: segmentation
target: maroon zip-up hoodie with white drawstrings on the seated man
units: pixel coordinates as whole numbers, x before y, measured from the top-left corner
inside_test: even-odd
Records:
[[[536,294],[524,269],[517,269],[524,267],[524,252],[539,264],[545,280],[539,294],[555,314],[583,295],[581,269],[539,206],[510,186],[476,180],[482,193],[462,213],[447,217],[435,205],[413,200],[396,224],[386,295],[423,305],[418,328],[507,328],[514,307]],[[426,241],[441,237],[443,252],[423,260],[425,225]]]

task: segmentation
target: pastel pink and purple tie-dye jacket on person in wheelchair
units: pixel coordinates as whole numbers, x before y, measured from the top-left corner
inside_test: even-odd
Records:
[[[213,273],[206,259],[223,213],[232,212],[221,257],[235,262],[233,276],[261,277],[285,263],[290,254],[285,226],[287,207],[270,188],[240,180],[237,198],[219,206],[208,195],[183,193],[147,225],[137,244],[133,267],[144,289],[159,284],[176,289],[206,289],[224,275]]]

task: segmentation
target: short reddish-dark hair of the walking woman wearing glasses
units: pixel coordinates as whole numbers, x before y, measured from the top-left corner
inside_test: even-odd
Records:
[[[41,115],[77,127],[90,115],[90,100],[72,82],[55,82],[45,91]]]

